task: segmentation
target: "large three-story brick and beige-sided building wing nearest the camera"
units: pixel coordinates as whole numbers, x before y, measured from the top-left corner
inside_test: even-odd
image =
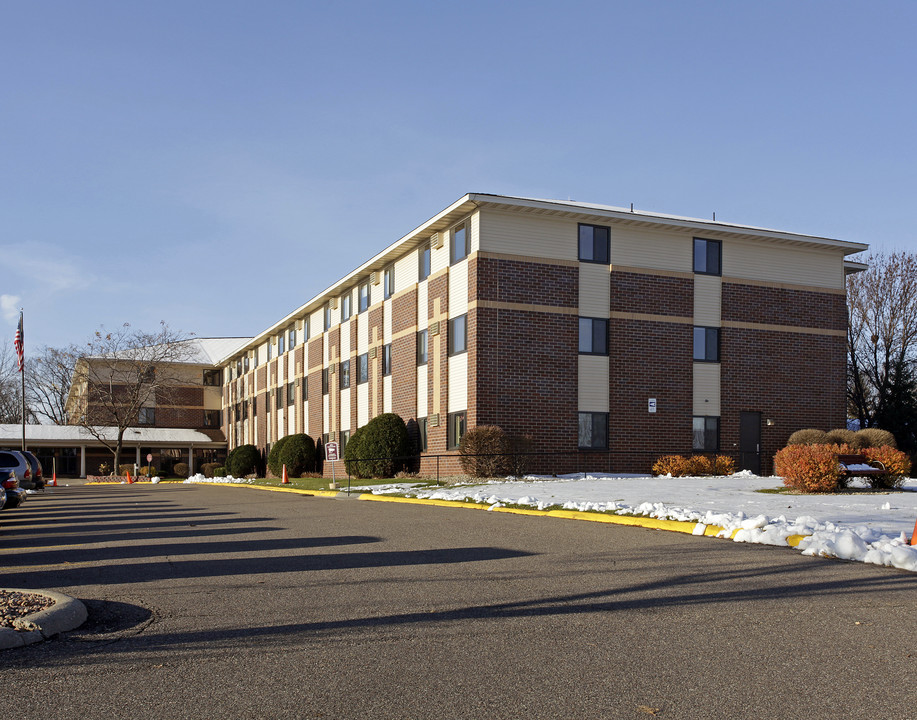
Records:
[[[845,273],[863,268],[845,256],[866,249],[466,195],[230,352],[223,429],[230,448],[346,443],[395,412],[427,455],[494,424],[562,453],[543,470],[694,449],[769,471],[794,430],[844,426]]]

